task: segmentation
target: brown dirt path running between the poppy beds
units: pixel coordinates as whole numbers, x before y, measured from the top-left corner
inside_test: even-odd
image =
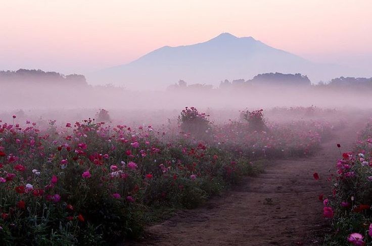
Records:
[[[325,178],[340,157],[336,143],[350,150],[354,129],[336,132],[311,158],[276,161],[222,198],[149,227],[133,245],[321,245],[327,223],[318,195],[330,191]]]

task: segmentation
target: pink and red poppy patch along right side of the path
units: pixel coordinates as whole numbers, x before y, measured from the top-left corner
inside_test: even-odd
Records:
[[[338,144],[340,147],[340,145]],[[332,195],[324,199],[323,216],[333,232],[325,245],[372,245],[372,124],[361,132],[355,150],[337,162]]]

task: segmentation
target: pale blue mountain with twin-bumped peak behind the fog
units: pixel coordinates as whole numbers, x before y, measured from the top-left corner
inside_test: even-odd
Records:
[[[218,85],[224,79],[250,79],[261,73],[301,73],[312,82],[355,76],[338,65],[317,64],[270,47],[253,37],[222,33],[206,42],[164,46],[130,62],[88,74],[91,84],[124,85],[128,89],[165,89],[179,79]]]

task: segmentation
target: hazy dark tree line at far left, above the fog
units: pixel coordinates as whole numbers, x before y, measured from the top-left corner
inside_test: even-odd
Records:
[[[87,85],[84,75],[63,75],[57,72],[44,72],[35,69],[0,71],[0,83],[33,83],[48,85]]]

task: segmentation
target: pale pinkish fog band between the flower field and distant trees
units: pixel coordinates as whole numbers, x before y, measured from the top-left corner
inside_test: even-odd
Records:
[[[114,86],[5,83],[0,91],[0,119],[11,122],[16,115],[18,120],[57,120],[63,124],[95,118],[105,109],[112,122],[160,125],[175,121],[187,106],[206,112],[214,122],[239,119],[239,111],[246,108],[264,109],[269,120],[300,120],[309,116],[306,109],[316,109],[316,114],[310,115],[313,118],[342,118],[340,112],[367,113],[372,105],[366,94],[358,88],[314,85],[131,91]],[[275,109],[282,110],[275,113]]]

